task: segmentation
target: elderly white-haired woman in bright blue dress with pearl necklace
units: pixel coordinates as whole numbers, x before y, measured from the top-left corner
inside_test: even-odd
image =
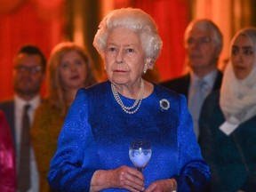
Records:
[[[187,101],[141,78],[162,49],[154,20],[139,9],[110,12],[94,37],[108,81],[81,89],[68,111],[48,180],[62,191],[203,191],[210,180]],[[132,140],[149,140],[140,172]]]

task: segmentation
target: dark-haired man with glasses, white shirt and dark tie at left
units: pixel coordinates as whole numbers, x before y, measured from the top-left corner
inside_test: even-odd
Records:
[[[13,140],[15,140],[16,164],[17,164],[17,191],[38,191],[39,176],[36,168],[36,159],[33,148],[30,145],[29,130],[27,142],[29,142],[28,176],[25,180],[20,180],[24,175],[20,161],[22,155],[21,148],[25,140],[23,131],[23,120],[26,110],[27,125],[33,122],[34,112],[41,103],[40,89],[44,82],[46,60],[44,54],[35,45],[24,45],[14,56],[13,85],[14,97],[12,100],[5,100],[0,103],[0,108],[4,111],[8,123],[12,129]],[[27,108],[27,109],[24,109]],[[27,127],[28,127],[27,126]],[[24,130],[23,130],[24,129]],[[30,148],[30,149],[29,149]],[[24,154],[24,153],[23,153]],[[27,155],[26,155],[27,156]],[[25,156],[25,157],[26,157]],[[23,164],[23,163],[22,163]],[[27,183],[28,182],[28,183]],[[27,186],[26,189],[21,186]],[[22,189],[21,189],[22,188]]]

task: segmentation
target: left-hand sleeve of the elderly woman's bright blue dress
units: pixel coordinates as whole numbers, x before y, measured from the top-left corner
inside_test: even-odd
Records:
[[[60,132],[58,148],[50,164],[48,181],[60,191],[89,191],[92,174],[96,171],[95,141],[88,124],[88,98],[84,89],[76,94]],[[84,154],[88,153],[88,154]],[[86,161],[84,161],[84,156]]]

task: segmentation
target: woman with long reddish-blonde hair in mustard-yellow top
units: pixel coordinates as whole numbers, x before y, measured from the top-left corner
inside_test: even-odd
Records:
[[[77,90],[97,82],[91,57],[84,48],[71,42],[60,43],[53,48],[47,74],[49,96],[37,108],[31,128],[40,174],[40,191],[51,190],[47,173],[57,148],[60,129]]]

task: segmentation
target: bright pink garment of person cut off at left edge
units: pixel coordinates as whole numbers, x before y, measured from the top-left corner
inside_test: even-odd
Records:
[[[11,128],[2,110],[0,110],[0,191],[16,191],[14,142]]]

